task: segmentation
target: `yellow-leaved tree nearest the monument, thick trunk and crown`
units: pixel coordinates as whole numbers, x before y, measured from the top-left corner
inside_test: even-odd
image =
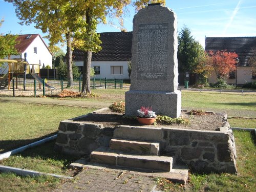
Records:
[[[138,0],[133,5],[138,7],[143,2],[143,6],[148,3],[162,3],[165,5],[165,0]],[[92,52],[97,52],[101,48],[99,47],[100,40],[99,35],[96,34],[97,23],[106,23],[106,17],[118,18],[119,24],[122,25],[123,8],[131,4],[131,0],[94,0],[86,1],[86,4],[80,5],[80,14],[83,15],[83,22],[86,23],[86,28],[80,31],[80,40],[77,41],[78,48],[84,50],[84,61],[83,61],[83,80],[82,80],[82,94],[90,93],[90,69]],[[137,3],[137,4],[136,4]],[[142,6],[141,6],[142,7]],[[78,36],[77,40],[78,40]]]

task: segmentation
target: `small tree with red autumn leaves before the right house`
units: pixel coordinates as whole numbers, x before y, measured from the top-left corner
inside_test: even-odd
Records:
[[[210,63],[218,79],[226,79],[229,72],[236,69],[234,61],[238,54],[227,51],[208,51]]]

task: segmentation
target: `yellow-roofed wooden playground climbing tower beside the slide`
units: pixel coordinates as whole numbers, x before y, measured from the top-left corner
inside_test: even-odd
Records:
[[[29,64],[24,61],[24,59],[0,59],[0,62],[7,63],[6,68],[0,74],[2,76],[6,69],[8,68],[8,72],[0,79],[0,87],[7,86],[8,79],[8,89],[10,89],[11,80],[16,77],[16,89],[17,89],[17,79],[18,75],[24,75],[24,90],[26,89],[26,74],[38,74],[40,72],[40,64]]]

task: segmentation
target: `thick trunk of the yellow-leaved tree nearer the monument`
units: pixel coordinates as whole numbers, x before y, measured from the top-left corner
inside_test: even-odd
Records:
[[[82,70],[82,94],[91,93],[91,63],[92,63],[92,52],[85,51],[83,56],[83,70]]]

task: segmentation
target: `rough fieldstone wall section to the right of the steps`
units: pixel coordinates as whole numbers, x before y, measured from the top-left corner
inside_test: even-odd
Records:
[[[163,129],[161,155],[197,172],[236,173],[236,146],[229,124],[220,131]]]

